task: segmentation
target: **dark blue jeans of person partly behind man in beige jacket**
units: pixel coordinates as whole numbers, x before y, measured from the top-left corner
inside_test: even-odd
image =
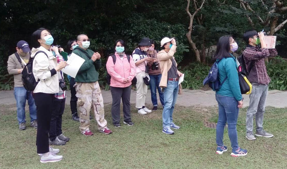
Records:
[[[158,106],[158,99],[156,97],[156,89],[158,89],[159,99],[161,105],[164,105],[164,95],[159,87],[161,74],[159,75],[149,75],[149,88],[151,89],[151,101],[153,102],[153,106]]]

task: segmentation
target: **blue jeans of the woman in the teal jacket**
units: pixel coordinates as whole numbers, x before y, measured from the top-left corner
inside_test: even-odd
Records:
[[[222,96],[215,94],[216,101],[218,102],[218,121],[216,126],[216,144],[223,146],[223,133],[226,122],[228,124],[228,136],[231,142],[231,147],[237,150],[237,119],[239,115],[238,101],[234,97]]]

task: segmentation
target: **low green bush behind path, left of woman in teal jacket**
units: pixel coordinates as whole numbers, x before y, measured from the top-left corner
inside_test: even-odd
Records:
[[[183,89],[200,89],[203,87],[203,80],[208,75],[210,66],[201,63],[190,63],[184,67]]]

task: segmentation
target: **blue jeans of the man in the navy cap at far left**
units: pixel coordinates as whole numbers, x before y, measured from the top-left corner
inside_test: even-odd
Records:
[[[17,118],[18,124],[26,123],[25,115],[25,105],[26,100],[28,100],[29,112],[30,112],[30,121],[33,122],[37,120],[37,111],[34,98],[31,91],[27,91],[24,87],[14,87],[14,96],[16,99],[17,105]]]

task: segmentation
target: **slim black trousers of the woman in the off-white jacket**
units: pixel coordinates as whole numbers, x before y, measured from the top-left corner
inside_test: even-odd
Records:
[[[49,152],[49,129],[52,115],[52,101],[54,94],[35,93],[35,105],[37,106],[37,153]]]

